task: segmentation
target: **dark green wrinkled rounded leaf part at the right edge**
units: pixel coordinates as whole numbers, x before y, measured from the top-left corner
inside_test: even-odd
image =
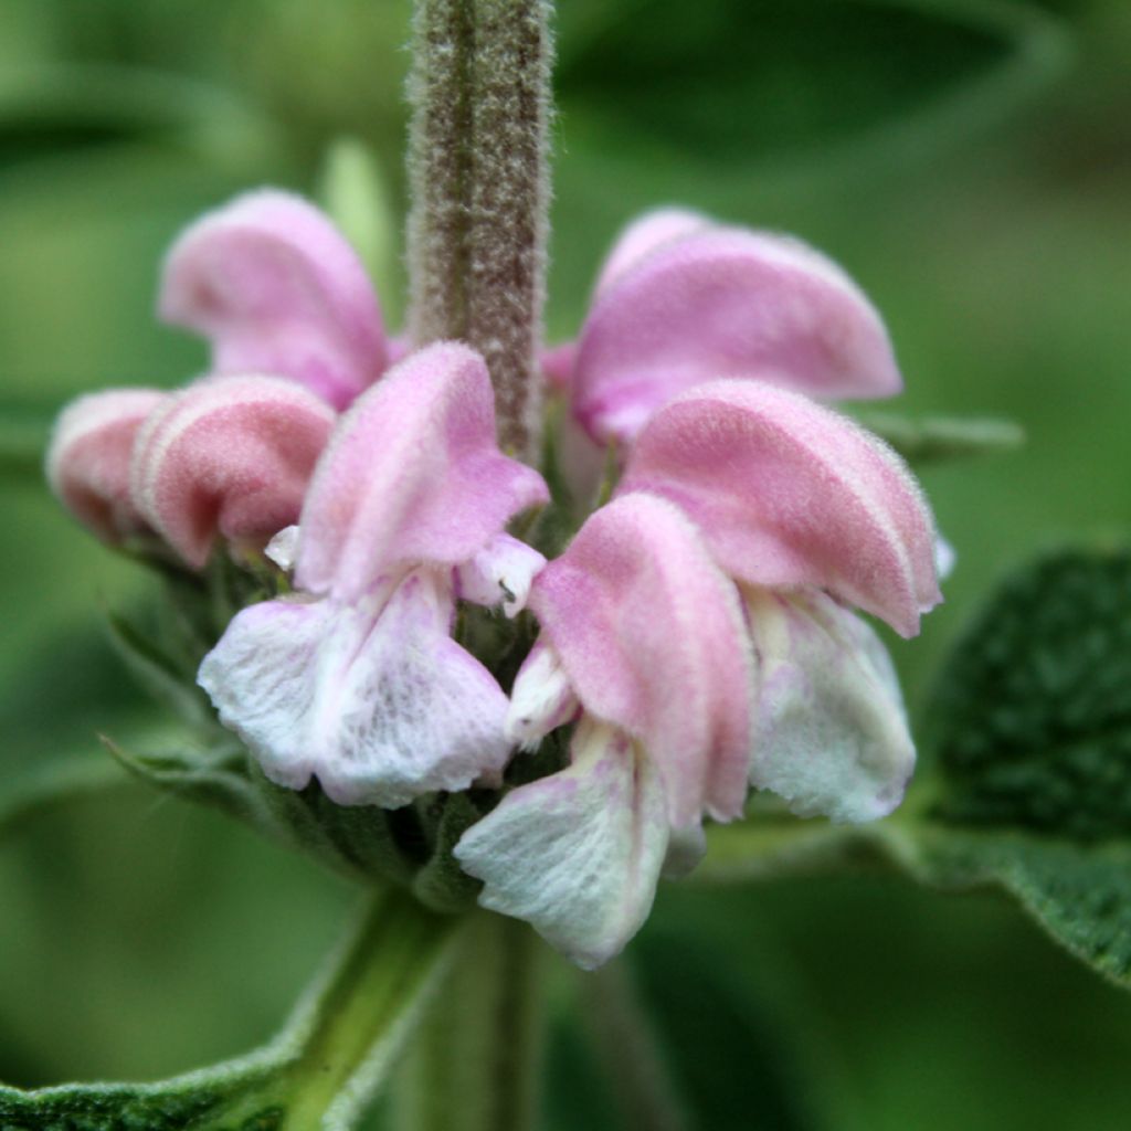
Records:
[[[933,723],[935,819],[1131,836],[1131,553],[1011,577],[955,649]]]

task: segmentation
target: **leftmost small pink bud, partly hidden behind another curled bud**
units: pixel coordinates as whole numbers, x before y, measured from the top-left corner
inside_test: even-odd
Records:
[[[93,392],[55,422],[46,458],[51,490],[112,545],[148,528],[130,499],[130,456],[145,418],[166,396],[157,389]]]

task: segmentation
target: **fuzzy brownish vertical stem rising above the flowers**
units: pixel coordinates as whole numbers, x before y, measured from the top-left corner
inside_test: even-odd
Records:
[[[502,446],[538,444],[550,199],[550,0],[418,0],[409,141],[411,331],[491,371]]]

